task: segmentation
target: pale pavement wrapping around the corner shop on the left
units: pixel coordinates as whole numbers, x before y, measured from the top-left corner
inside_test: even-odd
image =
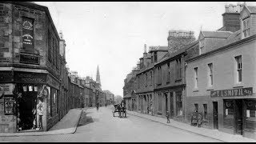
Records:
[[[83,110],[86,110],[86,108],[84,108]],[[78,126],[78,122],[81,114],[82,114],[82,109],[71,109],[56,125],[50,128],[50,130],[48,131],[24,132],[24,133],[0,133],[0,137],[73,134],[77,130],[77,126]]]

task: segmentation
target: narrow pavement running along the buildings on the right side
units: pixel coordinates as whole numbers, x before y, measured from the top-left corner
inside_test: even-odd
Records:
[[[245,138],[245,137],[242,137],[241,135],[227,134],[218,130],[210,130],[203,127],[198,128],[197,126],[190,126],[189,124],[186,124],[183,122],[177,122],[177,121],[174,121],[173,119],[170,119],[170,123],[166,123],[166,118],[152,116],[150,114],[141,114],[138,112],[128,111],[128,110],[127,110],[127,114],[132,114],[141,118],[147,118],[154,122],[160,122],[162,124],[173,126],[181,130],[186,130],[194,134],[200,134],[205,137],[215,138],[223,142],[256,142],[256,140],[254,139]]]

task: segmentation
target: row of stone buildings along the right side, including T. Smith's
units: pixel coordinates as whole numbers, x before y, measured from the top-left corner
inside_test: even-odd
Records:
[[[256,6],[226,5],[216,31],[170,30],[167,46],[146,45],[124,80],[129,110],[256,138]]]

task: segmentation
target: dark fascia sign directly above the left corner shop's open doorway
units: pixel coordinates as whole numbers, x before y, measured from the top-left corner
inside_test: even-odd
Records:
[[[27,73],[27,72],[14,72],[15,82],[26,83],[46,83],[46,74],[42,73]]]

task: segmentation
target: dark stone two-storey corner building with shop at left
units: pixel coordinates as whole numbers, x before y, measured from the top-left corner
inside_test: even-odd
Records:
[[[42,129],[49,130],[58,122],[60,86],[54,22],[47,7],[33,2],[0,2],[0,12],[0,132],[30,130],[39,100]]]

